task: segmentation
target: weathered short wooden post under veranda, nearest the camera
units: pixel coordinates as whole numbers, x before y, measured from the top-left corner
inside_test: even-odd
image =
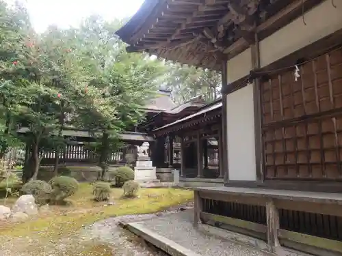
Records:
[[[279,229],[279,213],[274,201],[268,201],[266,203],[266,215],[267,215],[267,242],[271,248],[272,253],[276,252],[276,248],[280,246],[278,240]]]

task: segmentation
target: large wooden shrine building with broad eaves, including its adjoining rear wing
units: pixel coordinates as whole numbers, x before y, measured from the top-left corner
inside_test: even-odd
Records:
[[[220,113],[153,129],[181,138],[189,177],[215,173],[198,156],[218,140],[224,186],[195,189],[194,227],[342,255],[342,0],[146,0],[116,33],[127,51],[222,71]]]

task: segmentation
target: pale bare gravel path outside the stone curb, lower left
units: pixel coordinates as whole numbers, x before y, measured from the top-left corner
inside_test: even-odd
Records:
[[[70,256],[79,255],[80,251],[90,245],[103,244],[111,248],[111,253],[104,253],[107,256],[159,256],[150,246],[133,235],[133,233],[122,229],[119,221],[137,222],[153,218],[163,218],[178,212],[179,208],[191,208],[192,204],[181,205],[170,208],[157,214],[126,215],[107,218],[98,221],[93,225],[83,227],[79,232],[68,238],[50,241],[42,244],[37,237],[10,238],[0,234],[0,256]],[[73,253],[72,253],[73,252]],[[81,254],[85,255],[85,254]],[[88,255],[88,254],[86,254]],[[92,256],[91,254],[89,256]]]

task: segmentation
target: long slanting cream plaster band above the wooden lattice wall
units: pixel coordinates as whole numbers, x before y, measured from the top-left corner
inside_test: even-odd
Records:
[[[317,40],[342,29],[342,0],[326,0],[262,40],[260,47],[261,68],[281,59]]]

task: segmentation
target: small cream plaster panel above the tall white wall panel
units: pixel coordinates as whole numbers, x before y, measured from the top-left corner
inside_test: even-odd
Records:
[[[227,78],[228,83],[233,83],[246,76],[252,70],[252,51],[248,48],[239,55],[228,60]]]

